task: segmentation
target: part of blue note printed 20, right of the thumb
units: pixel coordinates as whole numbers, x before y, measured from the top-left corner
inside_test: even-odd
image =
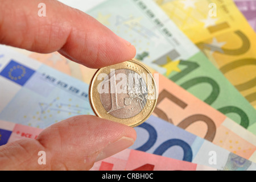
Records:
[[[131,149],[184,160],[220,170],[255,170],[256,163],[197,137],[179,127],[151,115],[138,127],[137,140]],[[210,161],[209,156],[216,160]]]

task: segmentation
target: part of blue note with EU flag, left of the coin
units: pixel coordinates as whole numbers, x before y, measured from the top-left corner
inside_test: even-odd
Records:
[[[78,114],[93,114],[88,85],[0,46],[0,118],[46,128]]]

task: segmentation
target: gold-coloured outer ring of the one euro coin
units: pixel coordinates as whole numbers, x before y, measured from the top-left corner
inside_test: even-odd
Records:
[[[97,76],[100,73],[106,73],[106,75],[110,74],[110,69],[130,69],[131,71],[134,71],[141,75],[142,73],[145,73],[147,76],[150,76],[152,79],[152,93],[148,93],[148,98],[150,96],[154,99],[147,99],[146,104],[144,105],[143,109],[141,112],[133,117],[130,118],[117,118],[114,117],[113,115],[109,114],[108,111],[105,110],[104,106],[102,105],[101,102],[101,97],[100,93],[97,90],[98,84],[102,82],[102,80],[97,80]],[[144,80],[144,79],[143,79]],[[148,87],[148,82],[144,80],[147,84]],[[154,85],[153,85],[154,84]],[[138,125],[141,125],[144,121],[150,117],[152,114],[153,110],[155,109],[156,102],[157,102],[157,97],[158,97],[158,89],[156,88],[156,82],[154,80],[154,77],[152,76],[151,72],[144,67],[143,64],[139,63],[138,61],[135,60],[129,60],[125,61],[123,63],[115,64],[115,65],[110,65],[108,67],[100,68],[96,71],[94,76],[92,77],[92,80],[90,81],[90,86],[89,86],[89,101],[90,101],[90,106],[92,107],[92,110],[94,114],[100,118],[108,119],[110,121],[122,123],[127,126],[135,127]]]

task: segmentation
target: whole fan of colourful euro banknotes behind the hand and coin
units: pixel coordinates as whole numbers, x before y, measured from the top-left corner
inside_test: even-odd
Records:
[[[128,40],[159,73],[158,102],[133,146],[90,170],[256,170],[256,1],[61,2]],[[94,114],[95,71],[57,52],[0,46],[0,145]]]

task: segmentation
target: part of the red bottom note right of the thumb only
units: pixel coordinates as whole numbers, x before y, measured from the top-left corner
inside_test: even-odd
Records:
[[[91,171],[216,171],[217,169],[154,155],[138,150],[126,149],[109,158],[96,162]]]

